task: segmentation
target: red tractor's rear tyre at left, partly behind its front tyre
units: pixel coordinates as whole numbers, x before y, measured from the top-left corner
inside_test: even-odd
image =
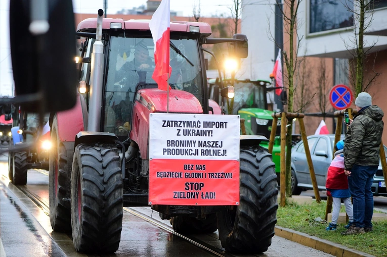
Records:
[[[67,151],[60,141],[57,126],[51,131],[51,145],[49,161],[49,205],[50,223],[53,230],[58,232],[71,231],[70,201],[66,201],[67,186]],[[67,196],[68,198],[68,196]]]

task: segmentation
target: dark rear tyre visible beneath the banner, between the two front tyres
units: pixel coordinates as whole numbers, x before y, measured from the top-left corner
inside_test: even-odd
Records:
[[[218,229],[216,214],[209,214],[204,220],[179,215],[170,218],[170,224],[179,233],[212,233]]]

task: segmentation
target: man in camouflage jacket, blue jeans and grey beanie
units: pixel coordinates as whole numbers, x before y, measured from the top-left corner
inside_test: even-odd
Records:
[[[384,113],[372,105],[371,95],[359,93],[355,105],[358,114],[348,127],[344,145],[345,174],[353,199],[354,222],[342,235],[372,231],[371,185],[379,166],[379,147],[384,125]]]

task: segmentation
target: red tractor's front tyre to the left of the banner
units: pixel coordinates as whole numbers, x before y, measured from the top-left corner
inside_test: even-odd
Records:
[[[113,253],[122,230],[123,187],[114,144],[79,144],[71,173],[71,227],[75,249]]]

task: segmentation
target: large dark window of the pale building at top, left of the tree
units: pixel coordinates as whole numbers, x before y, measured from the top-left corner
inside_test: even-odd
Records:
[[[346,5],[350,1],[310,0],[309,33],[351,27],[354,25],[353,13]],[[377,0],[380,1],[380,0]],[[387,0],[381,0],[387,1]],[[352,4],[351,4],[352,5]]]

